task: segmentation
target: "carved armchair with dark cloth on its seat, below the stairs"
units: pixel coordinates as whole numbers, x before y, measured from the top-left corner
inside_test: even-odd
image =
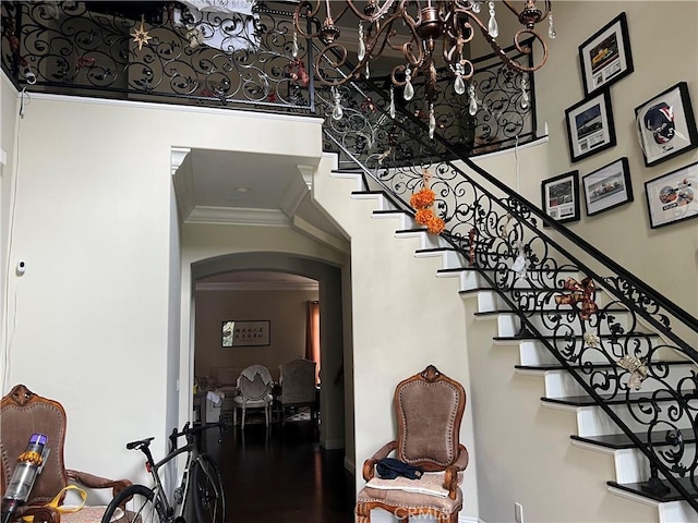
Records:
[[[366,485],[357,498],[357,523],[370,523],[373,509],[387,510],[399,521],[430,515],[456,523],[462,509],[459,485],[468,466],[468,451],[459,442],[465,389],[430,365],[397,386],[394,403],[398,438],[363,465]],[[376,464],[393,452],[424,474],[418,479],[376,475]]]

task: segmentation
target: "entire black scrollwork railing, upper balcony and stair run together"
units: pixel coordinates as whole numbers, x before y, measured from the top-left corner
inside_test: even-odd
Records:
[[[698,511],[698,320],[467,157],[535,138],[534,108],[520,110],[520,78],[480,68],[491,72],[489,80],[476,78],[478,114],[469,117],[467,102],[437,104],[433,141],[422,108],[398,104],[390,118],[389,94],[376,80],[342,87],[344,118],[334,120],[330,89],[305,85],[294,62],[289,13],[266,4],[263,11],[253,34],[242,34],[254,52],[225,53],[186,47],[185,28],[169,19],[155,24],[152,46],[136,49],[130,35],[135,22],[91,13],[84,2],[2,2],[2,66],[17,86],[33,90],[324,115],[325,148],[361,172],[368,190],[384,192],[410,215],[409,198],[428,169],[435,211],[446,223],[445,248],[465,265],[455,270],[496,291],[517,318],[513,335],[539,340],[583,401],[599,405],[647,457],[655,498],[665,498],[666,483]],[[312,50],[302,51],[312,74]],[[31,85],[27,65],[35,74]],[[595,295],[585,278],[609,296],[593,302],[598,308],[588,316]],[[563,294],[573,296],[564,299],[569,303],[556,303]],[[675,354],[691,364],[665,363]],[[637,367],[619,366],[624,357]],[[642,378],[639,391],[631,377]]]

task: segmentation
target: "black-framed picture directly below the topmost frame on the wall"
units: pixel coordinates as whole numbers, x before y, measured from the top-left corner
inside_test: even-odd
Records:
[[[603,90],[565,110],[569,158],[579,161],[615,145],[611,95]]]

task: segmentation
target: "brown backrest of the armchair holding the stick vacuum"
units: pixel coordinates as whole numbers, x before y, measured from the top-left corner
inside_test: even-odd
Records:
[[[65,411],[60,403],[41,398],[24,385],[15,386],[2,398],[0,405],[0,452],[2,459],[2,491],[14,472],[17,457],[24,452],[34,433],[48,436],[50,449],[41,474],[32,488],[27,504],[48,503],[68,485],[63,462]]]

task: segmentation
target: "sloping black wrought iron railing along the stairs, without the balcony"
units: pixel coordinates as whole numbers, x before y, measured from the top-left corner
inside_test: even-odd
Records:
[[[332,98],[318,95],[318,107],[329,114]],[[361,97],[385,107],[385,100],[376,101],[377,93],[362,92]],[[516,336],[540,340],[587,400],[603,409],[647,457],[648,494],[669,499],[663,477],[698,511],[698,352],[687,341],[696,339],[698,320],[472,160],[434,160],[437,149],[431,147],[425,127],[420,130],[409,117],[392,122],[385,110],[345,108],[346,122],[328,118],[325,137],[356,162],[366,188],[384,191],[396,209],[412,216],[409,199],[429,170],[436,214],[446,223],[442,238],[460,254],[464,270],[477,272],[484,287],[497,291],[519,318]],[[419,144],[425,153],[422,161],[414,161],[420,160],[416,156],[404,161],[398,144],[405,142]],[[456,154],[441,136],[437,142]],[[570,273],[578,280],[570,280]],[[605,303],[595,304],[597,293],[587,293],[590,282],[609,295]],[[562,299],[566,303],[556,303],[555,296],[570,294]],[[673,353],[689,364],[665,362],[675,360]],[[628,362],[636,368],[627,367]],[[641,384],[636,391],[631,379],[637,375]],[[617,404],[625,405],[625,412]]]

